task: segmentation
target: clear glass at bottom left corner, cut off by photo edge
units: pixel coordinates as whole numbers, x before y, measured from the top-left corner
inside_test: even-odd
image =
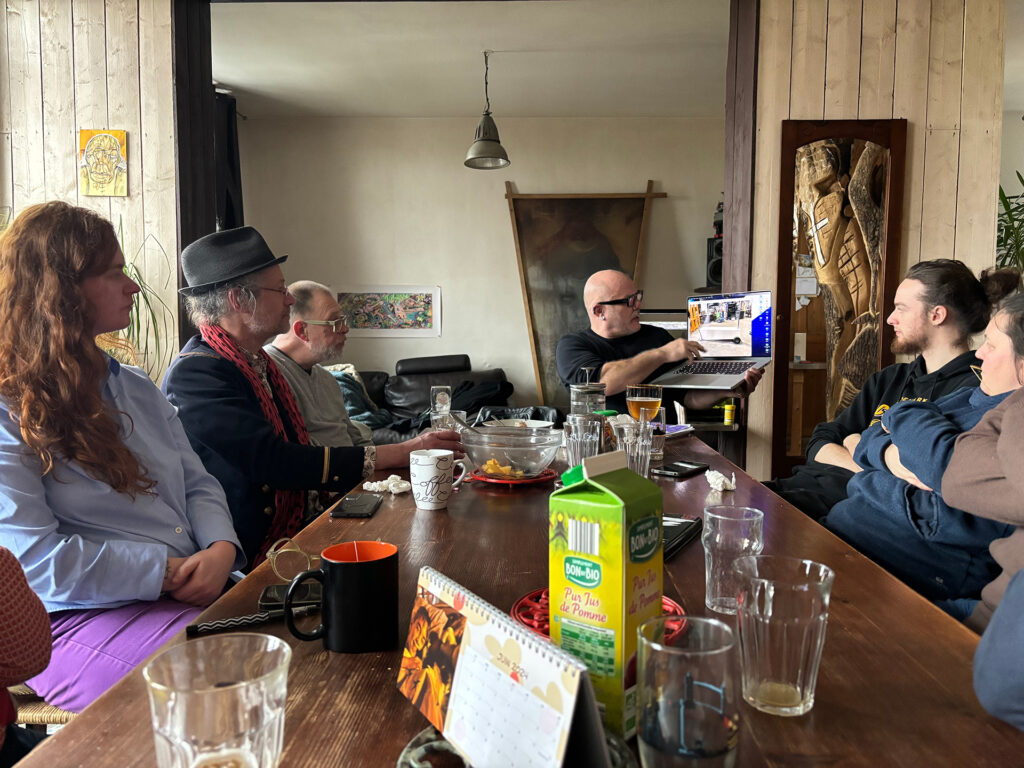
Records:
[[[142,669],[160,768],[272,768],[285,735],[292,649],[270,635],[175,645]]]

